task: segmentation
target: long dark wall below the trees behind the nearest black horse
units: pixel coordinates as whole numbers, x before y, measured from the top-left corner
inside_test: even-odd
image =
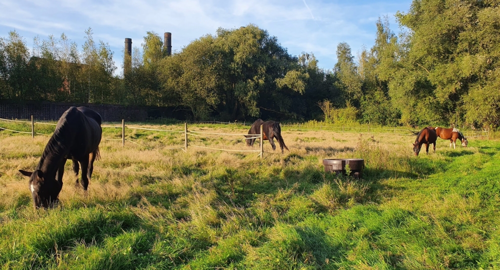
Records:
[[[185,110],[173,107],[124,106],[110,104],[85,104],[45,101],[11,101],[0,100],[0,118],[29,119],[33,115],[37,120],[57,120],[70,106],[85,106],[97,111],[103,121],[144,121],[147,117],[165,117],[187,119]]]

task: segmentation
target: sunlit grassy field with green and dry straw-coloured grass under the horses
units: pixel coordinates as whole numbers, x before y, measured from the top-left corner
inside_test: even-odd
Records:
[[[246,149],[211,136],[190,143]],[[497,140],[454,150],[438,140],[435,154],[415,157],[411,136],[283,129],[290,151],[265,142],[259,159],[167,149],[183,145],[181,134],[127,129],[126,138],[124,148],[102,140],[87,194],[68,162],[60,205],[33,210],[17,170],[36,166],[48,137],[0,131],[2,268],[500,268]],[[336,157],[365,158],[363,179],[325,173],[322,158]]]

